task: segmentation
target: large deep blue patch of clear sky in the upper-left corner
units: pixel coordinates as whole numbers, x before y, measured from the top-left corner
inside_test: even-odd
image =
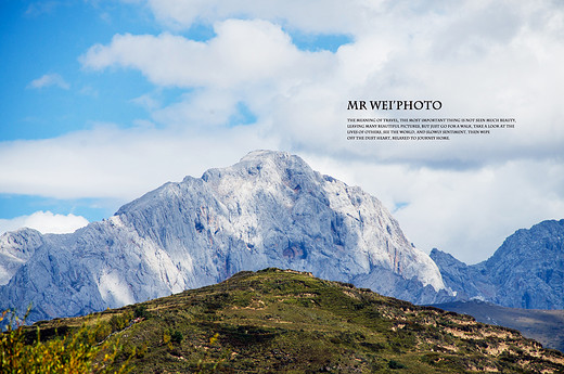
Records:
[[[118,80],[111,85],[99,75],[81,72],[77,57],[116,33],[150,30],[148,23],[138,26],[143,20],[140,12],[131,12],[134,17],[130,17],[125,10],[76,1],[4,3],[1,105],[2,121],[8,125],[2,126],[2,139],[43,139],[87,128],[89,120],[127,124],[134,118],[134,105],[117,106],[113,98],[127,103],[133,92],[146,89],[139,74],[115,76]],[[57,76],[61,81],[34,87],[33,81],[43,76]]]

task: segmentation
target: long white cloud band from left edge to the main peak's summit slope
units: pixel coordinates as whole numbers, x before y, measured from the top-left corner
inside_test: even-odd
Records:
[[[145,122],[130,129],[100,124],[53,139],[0,143],[0,191],[129,201],[167,181],[230,165],[259,147],[273,147],[273,142],[246,127],[198,133]]]

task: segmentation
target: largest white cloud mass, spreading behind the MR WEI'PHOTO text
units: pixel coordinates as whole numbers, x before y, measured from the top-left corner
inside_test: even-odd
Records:
[[[215,23],[217,36],[207,42],[170,34],[117,35],[81,61],[92,69],[139,69],[159,86],[196,87],[154,113],[165,126],[221,125],[243,101],[285,149],[454,168],[562,157],[564,43],[554,38],[561,29],[527,17],[529,8],[509,3],[471,2],[444,14],[419,14],[402,4],[334,54],[299,51],[271,22],[227,20]],[[554,17],[549,11],[537,9],[536,17]],[[498,18],[499,27],[490,28]],[[350,99],[441,100],[436,116],[513,117],[517,129],[440,144],[351,144],[344,136],[346,117],[358,115],[346,111]]]

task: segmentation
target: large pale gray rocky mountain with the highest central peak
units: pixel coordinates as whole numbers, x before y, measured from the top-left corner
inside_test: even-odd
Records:
[[[420,304],[448,298],[438,268],[380,201],[287,153],[257,151],[166,183],[102,222],[46,235],[0,287],[30,320],[78,315],[268,267]],[[39,242],[38,242],[39,243]]]

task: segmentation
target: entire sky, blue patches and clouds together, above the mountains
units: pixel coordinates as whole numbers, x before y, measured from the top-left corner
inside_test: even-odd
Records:
[[[360,185],[418,247],[469,262],[562,218],[555,2],[1,1],[0,17],[0,231],[69,231],[254,149]],[[422,98],[518,126],[345,140],[347,100]]]

